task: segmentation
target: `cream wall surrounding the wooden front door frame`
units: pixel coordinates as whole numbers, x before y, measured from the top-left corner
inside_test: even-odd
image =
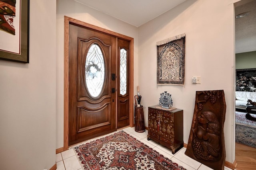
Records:
[[[64,16],[134,38],[134,92],[138,84],[138,28],[74,0],[57,0],[57,108],[56,149],[64,146]]]

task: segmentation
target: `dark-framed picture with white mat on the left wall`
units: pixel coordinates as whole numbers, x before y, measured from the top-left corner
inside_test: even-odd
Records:
[[[0,0],[0,59],[29,63],[29,0]]]

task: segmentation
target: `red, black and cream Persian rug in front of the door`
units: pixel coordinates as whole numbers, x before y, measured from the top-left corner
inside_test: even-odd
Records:
[[[185,170],[124,131],[73,149],[85,170]]]

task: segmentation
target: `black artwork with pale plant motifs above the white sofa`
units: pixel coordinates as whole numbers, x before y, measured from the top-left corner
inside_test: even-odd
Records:
[[[256,68],[236,70],[236,91],[256,92]]]

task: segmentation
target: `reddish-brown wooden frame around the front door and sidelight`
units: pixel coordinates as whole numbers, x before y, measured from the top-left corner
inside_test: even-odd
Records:
[[[80,27],[84,27],[87,29],[93,29],[95,31],[99,31],[102,33],[106,33],[109,35],[113,35],[115,37],[125,39],[127,41],[130,41],[130,106],[129,106],[129,117],[130,117],[130,127],[134,127],[134,113],[133,113],[133,93],[134,93],[134,39],[132,37],[128,37],[126,35],[122,35],[120,33],[116,33],[114,31],[110,31],[95,25],[92,25],[90,23],[86,23],[84,21],[76,20],[74,18],[70,18],[67,16],[64,16],[64,150],[68,150],[68,99],[69,99],[69,24],[72,23],[74,25],[78,25]],[[116,115],[117,116],[117,115]],[[117,126],[117,125],[116,125]]]

